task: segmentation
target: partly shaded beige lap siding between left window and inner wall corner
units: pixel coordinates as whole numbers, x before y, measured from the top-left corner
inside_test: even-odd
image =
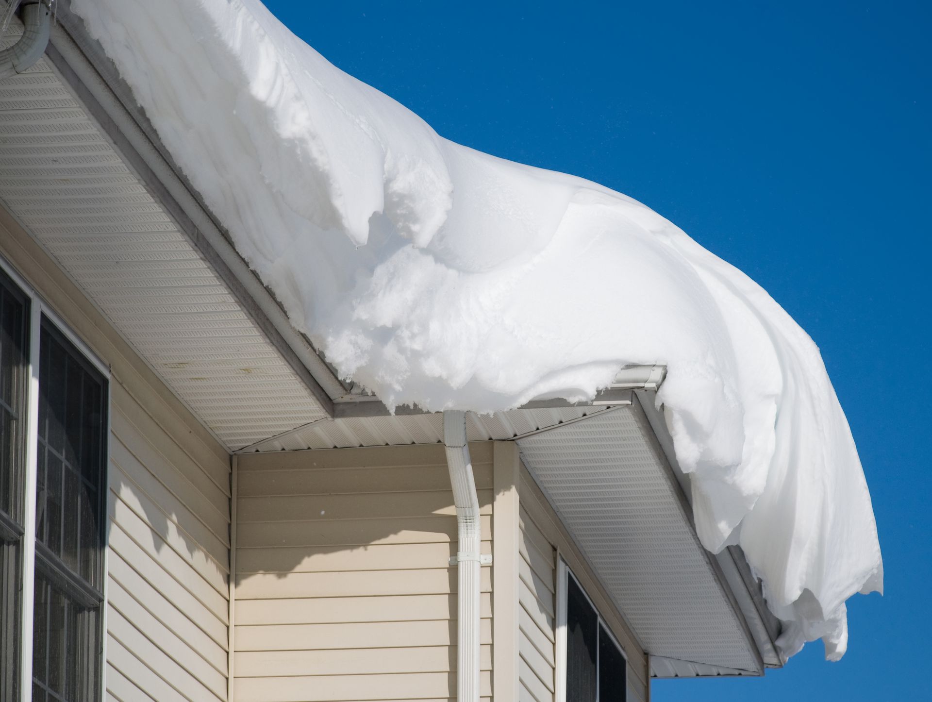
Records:
[[[118,382],[111,396],[108,691],[226,700],[228,498]]]

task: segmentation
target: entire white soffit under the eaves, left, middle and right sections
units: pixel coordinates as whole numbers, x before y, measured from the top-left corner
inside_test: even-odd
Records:
[[[226,447],[442,441],[437,414],[345,416],[365,415],[363,401],[362,410],[347,403],[333,419],[328,402],[341,399],[335,379],[296,368],[196,245],[197,232],[179,224],[177,203],[165,199],[138,155],[115,146],[114,126],[102,129],[85,96],[75,97],[74,78],[62,79],[59,62],[39,62],[0,83],[0,200]],[[329,388],[329,398],[302,371]],[[646,384],[638,383],[630,387]],[[517,441],[654,656],[651,674],[761,673],[760,627],[752,635],[742,614],[753,607],[734,603],[736,581],[728,585],[699,544],[689,505],[637,402],[536,406],[469,422],[471,440]]]

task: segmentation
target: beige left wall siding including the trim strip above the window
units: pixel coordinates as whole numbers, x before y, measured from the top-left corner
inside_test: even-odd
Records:
[[[107,699],[226,700],[226,449],[2,208],[0,255],[111,367]]]

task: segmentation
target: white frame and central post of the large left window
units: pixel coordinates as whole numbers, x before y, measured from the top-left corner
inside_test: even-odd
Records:
[[[107,381],[107,428],[104,434],[104,479],[103,490],[106,495],[104,505],[106,512],[102,515],[104,520],[109,519],[110,504],[110,417],[111,386],[113,385],[110,366],[103,363],[101,358],[62,320],[61,315],[55,311],[40,296],[35,288],[26,282],[7,260],[0,256],[0,269],[19,286],[21,293],[29,299],[29,371],[27,375],[26,390],[26,446],[25,446],[25,475],[23,476],[23,507],[22,507],[22,598],[20,602],[20,702],[33,701],[33,636],[34,636],[34,599],[35,599],[35,486],[38,473],[38,434],[39,434],[39,335],[42,328],[42,318],[67,338],[75,349],[93,365]],[[105,528],[104,533],[109,532]],[[103,600],[101,602],[101,700],[106,698],[106,672],[107,672],[107,574],[110,572],[110,549],[103,547]]]

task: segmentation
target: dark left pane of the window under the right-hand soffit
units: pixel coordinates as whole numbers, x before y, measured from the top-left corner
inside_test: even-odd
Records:
[[[573,578],[567,588],[567,702],[596,702],[598,615]]]

